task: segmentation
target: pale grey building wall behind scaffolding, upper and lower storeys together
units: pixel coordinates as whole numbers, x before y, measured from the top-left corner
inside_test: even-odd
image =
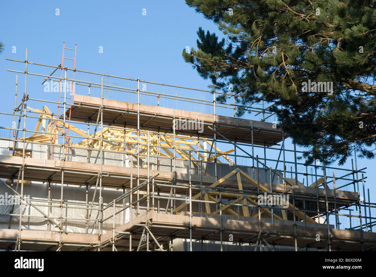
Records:
[[[0,154],[1,155],[9,155],[11,149],[13,149],[14,143],[11,141],[1,140],[0,139]],[[21,150],[23,148],[22,142],[17,142],[16,148]],[[45,145],[38,145],[35,143],[26,143],[25,149],[27,152],[30,152],[32,158],[41,158],[41,159],[51,159],[53,147],[52,146],[45,146]],[[55,146],[54,151],[54,159],[59,160],[64,157],[65,153],[61,146]],[[79,161],[79,162],[87,162],[88,159],[88,151],[86,149],[69,149],[67,150],[67,160],[72,161]],[[112,152],[105,152],[103,151],[103,164],[108,165],[115,165],[115,166],[130,166],[130,159],[133,160],[134,166],[136,166],[137,161],[134,157],[130,155],[126,155],[123,153],[112,153]],[[93,149],[90,155],[90,163],[100,163],[100,151],[96,151]],[[147,166],[147,157],[140,156],[139,164],[141,166]],[[149,166],[152,170],[162,170],[167,172],[173,172],[173,159],[165,158],[165,157],[150,157],[149,158]],[[214,163],[203,163],[203,168],[206,172],[211,175],[215,176],[214,170]],[[218,163],[217,164],[217,176],[219,178],[227,175],[235,168],[240,168],[246,174],[250,175],[250,177],[257,179],[256,177],[256,168],[252,168],[250,166],[238,166],[234,165],[231,166],[229,164]],[[180,160],[176,159],[175,161],[175,170],[179,173],[187,174],[189,172],[189,161],[187,160]],[[191,162],[191,174],[200,174],[199,167],[195,162]],[[232,177],[235,180],[235,176]],[[265,171],[264,169],[259,169],[259,180],[261,182],[269,182],[270,175],[269,171]],[[7,180],[4,180],[7,181]],[[273,182],[280,183],[280,178],[274,176]],[[20,187],[18,187],[18,192],[20,192]],[[51,198],[54,201],[60,200],[60,192],[61,192],[61,185],[60,184],[52,184],[51,185]],[[11,195],[11,190],[5,186],[0,186],[0,195],[4,196],[8,193],[8,196]],[[42,184],[40,182],[29,182],[28,184],[24,184],[24,195],[29,196],[33,200],[46,200],[48,193],[48,184]],[[94,194],[94,188],[90,188],[88,192],[88,199],[91,202],[91,199]],[[103,202],[104,205],[107,203],[111,203],[113,199],[117,198],[118,196],[122,195],[122,190],[114,190],[104,188],[102,190]],[[162,193],[163,195],[165,193]],[[166,194],[168,196],[168,193]],[[181,196],[182,201],[184,199],[184,195]],[[135,198],[133,198],[135,199]],[[85,204],[86,201],[86,188],[85,187],[78,187],[73,185],[64,185],[63,186],[63,200],[64,202],[74,202],[77,204]],[[97,190],[96,197],[94,199],[94,204],[99,205],[99,189]],[[120,210],[122,205],[127,205],[129,199],[124,199],[123,202],[118,203],[115,207],[115,211]],[[38,204],[46,204],[45,202],[33,202]],[[144,203],[140,203],[140,213],[144,212],[143,208]],[[49,213],[49,215],[59,222],[60,217],[60,207],[59,203],[54,203],[54,207],[50,208],[48,211],[48,207],[39,207],[44,213]],[[165,203],[161,202],[161,211],[165,209]],[[77,205],[76,207],[85,208],[83,205]],[[12,228],[18,229],[18,216],[9,216],[10,210],[13,209],[13,214],[20,213],[20,205],[0,205],[0,228]],[[105,215],[103,219],[112,215],[113,210],[109,208],[105,210]],[[23,220],[22,220],[22,228],[24,230],[47,230],[47,226],[51,231],[59,231],[59,229],[49,221],[44,218],[41,213],[39,213],[34,207],[30,205],[23,205]],[[36,217],[30,217],[36,216]],[[98,224],[96,219],[98,218],[98,211],[93,210],[91,213],[90,219],[94,219],[95,221],[89,221],[88,227],[86,228],[85,221],[77,220],[77,219],[84,219],[86,216],[86,209],[72,209],[72,208],[63,208],[63,217],[68,218],[64,219],[63,227],[68,232],[73,233],[97,233],[98,232]],[[133,216],[133,215],[132,215]],[[129,209],[119,213],[115,216],[115,225],[121,225],[125,222],[129,221]],[[10,225],[9,225],[10,222]],[[111,230],[112,228],[112,219],[105,221],[103,223],[103,230]],[[86,230],[87,229],[87,230]]]

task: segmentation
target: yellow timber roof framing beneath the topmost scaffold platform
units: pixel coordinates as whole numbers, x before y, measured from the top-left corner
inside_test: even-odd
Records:
[[[54,117],[47,108],[47,106],[43,106],[43,110],[34,109],[27,107],[27,109],[34,111],[36,113],[40,113],[38,122],[36,123],[35,133],[30,136],[26,137],[26,141],[30,142],[47,142],[58,145],[58,133],[59,135],[63,134],[63,124],[61,121],[57,121],[56,117]],[[57,125],[57,126],[56,126]],[[55,128],[56,126],[56,128]],[[41,128],[41,132],[46,133],[53,133],[52,134],[38,134],[39,129]],[[66,126],[66,128],[68,128]],[[73,126],[72,124],[69,125],[70,131],[75,132],[76,134],[88,137],[90,139],[83,139],[78,143],[73,143],[70,139],[68,139],[68,145],[73,147],[80,147],[80,148],[88,148],[88,149],[100,149],[100,135],[101,130],[97,131],[94,135],[84,131],[80,128]],[[55,135],[56,133],[56,135]],[[138,145],[138,135],[137,130],[126,130],[124,132],[123,129],[119,129],[116,127],[105,127],[102,129],[102,139],[103,141],[103,150],[110,150],[116,152],[127,153],[128,155],[132,155],[134,158],[137,157],[137,150],[139,149],[139,154],[147,154],[147,143],[149,142],[149,149],[150,155],[157,156],[157,157],[169,157],[173,158],[174,153],[173,149],[175,147],[176,155],[175,157],[181,157],[183,159],[189,159],[189,151],[197,151],[197,147],[199,150],[208,151],[208,148],[216,149],[217,156],[215,154],[208,154],[208,153],[198,153],[200,160],[203,161],[213,161],[217,158],[217,163],[221,163],[218,157],[223,157],[226,161],[230,164],[233,164],[233,161],[226,155],[232,153],[234,150],[231,149],[229,151],[222,152],[220,149],[215,148],[212,142],[199,140],[196,137],[190,137],[186,135],[177,135],[175,137],[175,145],[174,139],[172,134],[156,134],[155,132],[149,132],[149,138],[147,136],[148,132],[140,130],[139,134],[139,145]],[[161,146],[161,147],[159,147]],[[125,149],[124,149],[125,148]],[[214,152],[214,151],[213,151]],[[180,158],[179,157],[179,158]],[[196,160],[196,158],[191,157],[192,160]],[[198,165],[197,161],[193,162],[194,164]],[[146,167],[146,165],[144,165]],[[205,170],[203,170],[205,172]],[[205,172],[205,175],[209,175]]]

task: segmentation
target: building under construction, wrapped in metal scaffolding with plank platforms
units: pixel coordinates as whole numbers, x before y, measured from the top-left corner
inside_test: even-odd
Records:
[[[299,163],[273,103],[78,70],[65,44],[57,66],[7,60],[0,249],[376,249],[365,168]]]

